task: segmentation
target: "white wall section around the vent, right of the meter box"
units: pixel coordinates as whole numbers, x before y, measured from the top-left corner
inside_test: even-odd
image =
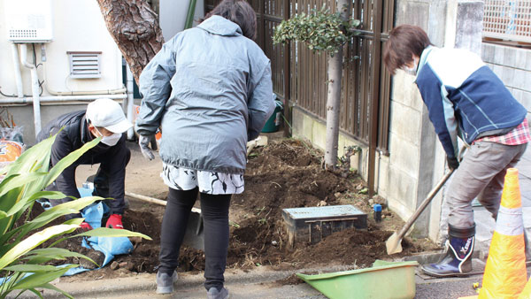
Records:
[[[122,88],[121,53],[105,27],[93,0],[54,0],[54,41],[46,44],[42,75],[55,91],[86,91]],[[101,51],[102,77],[72,79],[67,51]]]

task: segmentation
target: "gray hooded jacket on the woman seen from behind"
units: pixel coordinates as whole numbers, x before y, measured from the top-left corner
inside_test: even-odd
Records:
[[[246,143],[274,110],[271,65],[238,25],[205,19],[166,42],[140,76],[139,134],[162,128],[166,164],[243,173]]]

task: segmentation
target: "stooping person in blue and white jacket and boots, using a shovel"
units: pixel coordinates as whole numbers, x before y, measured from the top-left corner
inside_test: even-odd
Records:
[[[422,270],[435,277],[471,272],[472,201],[477,197],[496,219],[506,170],[519,162],[531,140],[527,110],[480,57],[468,50],[437,48],[420,27],[401,25],[391,30],[383,59],[393,74],[403,69],[416,75],[448,166],[455,170],[446,197],[447,252]],[[460,163],[458,137],[469,146]]]

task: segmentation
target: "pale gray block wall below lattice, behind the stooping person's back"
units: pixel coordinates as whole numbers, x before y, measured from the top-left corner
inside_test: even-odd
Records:
[[[531,49],[520,49],[483,42],[481,58],[519,103],[527,108],[531,122]]]

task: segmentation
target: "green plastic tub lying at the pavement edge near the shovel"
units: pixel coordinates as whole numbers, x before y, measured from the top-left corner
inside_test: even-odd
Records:
[[[415,267],[419,263],[376,260],[371,268],[317,275],[296,273],[330,299],[415,297]]]

